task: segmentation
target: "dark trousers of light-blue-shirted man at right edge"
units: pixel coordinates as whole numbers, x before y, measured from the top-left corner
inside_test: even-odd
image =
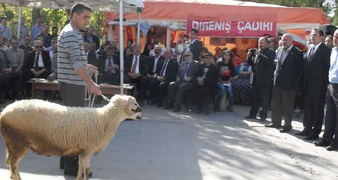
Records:
[[[326,96],[326,120],[323,141],[338,147],[338,84],[330,84]]]

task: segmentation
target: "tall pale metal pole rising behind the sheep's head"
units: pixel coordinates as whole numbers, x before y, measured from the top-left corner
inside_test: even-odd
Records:
[[[119,0],[119,23],[120,23],[120,94],[123,94],[123,0]]]

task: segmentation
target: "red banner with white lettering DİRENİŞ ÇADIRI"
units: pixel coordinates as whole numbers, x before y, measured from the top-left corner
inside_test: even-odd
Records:
[[[213,37],[262,37],[265,34],[276,36],[275,22],[250,22],[250,21],[187,21],[187,34],[191,28],[198,30],[198,36]]]

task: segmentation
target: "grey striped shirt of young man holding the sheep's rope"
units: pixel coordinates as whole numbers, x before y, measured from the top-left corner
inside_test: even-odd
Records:
[[[86,85],[75,72],[79,67],[85,67],[87,70],[87,58],[84,52],[83,38],[71,24],[68,24],[62,29],[58,38],[59,81],[75,85]]]

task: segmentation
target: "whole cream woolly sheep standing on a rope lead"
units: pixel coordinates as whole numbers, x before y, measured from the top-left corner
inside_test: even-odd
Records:
[[[39,155],[79,155],[76,180],[88,180],[90,158],[107,148],[126,118],[140,120],[142,109],[131,96],[115,95],[102,108],[75,108],[42,100],[22,100],[3,109],[0,129],[5,163],[12,180],[21,180],[19,162],[29,148]]]

